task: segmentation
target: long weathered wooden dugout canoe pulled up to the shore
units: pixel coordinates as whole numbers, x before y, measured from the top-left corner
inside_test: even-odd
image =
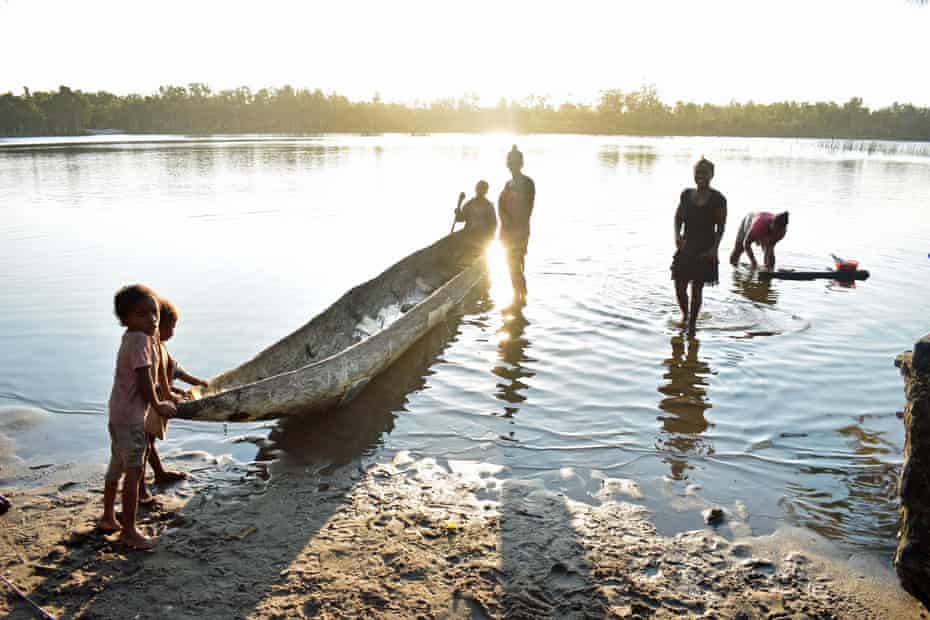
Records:
[[[482,249],[463,230],[410,254],[248,362],[195,388],[177,417],[240,422],[348,403],[484,277]]]

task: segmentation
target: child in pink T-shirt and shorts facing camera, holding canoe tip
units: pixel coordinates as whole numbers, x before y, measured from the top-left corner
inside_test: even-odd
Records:
[[[141,284],[125,286],[114,297],[116,316],[126,327],[116,355],[113,390],[110,393],[110,465],[103,491],[100,529],[122,530],[120,539],[134,549],[151,549],[152,541],[136,529],[139,479],[145,462],[145,414],[152,409],[163,416],[175,412],[174,403],[155,394],[158,370],[158,298]],[[114,504],[123,480],[122,523]]]

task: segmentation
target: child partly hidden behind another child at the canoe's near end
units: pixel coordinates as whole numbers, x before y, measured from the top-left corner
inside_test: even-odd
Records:
[[[191,374],[189,374],[184,368],[175,360],[171,355],[168,354],[168,349],[165,347],[165,343],[174,336],[174,329],[177,327],[178,319],[180,314],[178,313],[177,307],[167,299],[162,299],[160,305],[160,320],[158,323],[158,335],[161,343],[159,344],[159,357],[161,359],[161,367],[165,372],[165,383],[169,386],[169,389],[172,392],[173,398],[183,397],[186,393],[184,390],[174,387],[172,385],[175,379],[189,383],[190,385],[199,385],[202,387],[207,386],[207,382],[203,379],[199,379]],[[159,382],[161,383],[161,382]],[[165,433],[168,430],[168,419],[160,415],[157,415],[155,412],[150,411],[145,419],[145,435],[146,442],[148,446],[148,463],[152,466],[152,473],[155,475],[155,484],[164,484],[166,482],[174,482],[176,480],[183,480],[187,477],[187,474],[183,471],[170,471],[164,468],[162,465],[161,459],[158,457],[158,452],[155,450],[155,440],[164,439]],[[141,502],[148,501],[151,497],[148,493],[148,490],[145,487],[145,465],[142,466],[142,478],[140,479],[139,486],[139,498]]]

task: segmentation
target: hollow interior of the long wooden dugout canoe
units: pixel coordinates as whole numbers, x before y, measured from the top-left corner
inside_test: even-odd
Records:
[[[483,248],[456,232],[443,237],[348,291],[329,308],[248,362],[210,380],[211,396],[317,364],[387,328],[471,265]],[[311,284],[312,285],[312,284]]]

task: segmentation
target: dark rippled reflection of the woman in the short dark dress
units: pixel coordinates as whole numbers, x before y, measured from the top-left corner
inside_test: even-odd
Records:
[[[665,398],[659,408],[667,415],[660,415],[663,436],[658,440],[660,449],[669,451],[666,462],[671,466],[674,480],[687,479],[687,455],[713,454],[713,447],[701,438],[710,424],[704,412],[711,407],[707,399],[707,383],[704,378],[711,374],[710,366],[698,358],[700,341],[696,338],[672,337],[672,356],[663,364],[668,372],[663,375],[667,383],[659,386]]]

